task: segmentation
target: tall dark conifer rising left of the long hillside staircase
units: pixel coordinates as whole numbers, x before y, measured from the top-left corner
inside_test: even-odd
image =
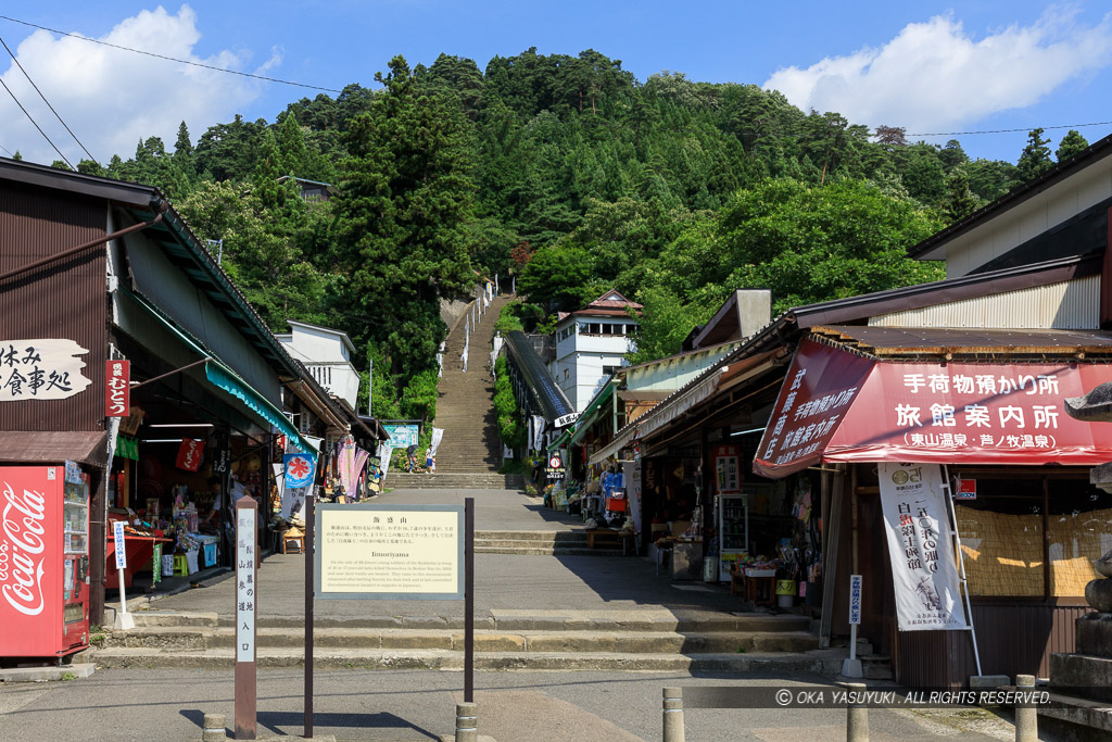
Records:
[[[334,265],[345,276],[337,314],[409,379],[435,364],[440,297],[475,280],[474,148],[458,98],[419,86],[404,58],[376,79],[385,89],[345,133],[350,157],[332,201]]]

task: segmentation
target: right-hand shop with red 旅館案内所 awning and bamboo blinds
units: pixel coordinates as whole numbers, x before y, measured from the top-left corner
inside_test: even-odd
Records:
[[[1070,418],[1064,399],[1112,378],[1110,359],[1112,338],[1095,332],[830,327],[801,342],[755,468],[832,472],[830,632],[847,633],[848,575],[861,574],[862,634],[897,681],[979,674],[972,632],[914,630],[896,611],[894,572],[930,565],[937,538],[923,541],[910,513],[895,533],[877,466],[937,466],[952,508],[940,531],[952,518],[960,545],[943,571],[967,576],[969,597],[949,597],[973,625],[981,672],[1045,675],[1051,652],[1072,651],[1092,560],[1112,546],[1112,496],[1089,484],[1112,432]]]

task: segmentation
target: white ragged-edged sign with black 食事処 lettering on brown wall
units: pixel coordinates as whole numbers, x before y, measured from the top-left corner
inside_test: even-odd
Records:
[[[0,340],[0,402],[64,399],[92,384],[81,375],[89,353],[73,340]]]

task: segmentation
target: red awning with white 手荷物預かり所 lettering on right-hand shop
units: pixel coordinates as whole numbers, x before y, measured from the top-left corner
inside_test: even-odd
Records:
[[[872,329],[880,328],[853,332]],[[1112,461],[1112,425],[1065,413],[1066,397],[1112,380],[1112,365],[1069,355],[1072,347],[1051,345],[1061,339],[1051,332],[1024,332],[1016,345],[992,350],[966,343],[984,335],[951,330],[932,338],[930,349],[914,347],[905,336],[901,353],[912,355],[898,359],[895,352],[877,355],[893,350],[891,345],[863,354],[815,337],[803,340],[754,471],[778,478],[821,462],[1095,466]],[[1112,347],[1112,336],[1094,342],[1088,347]],[[940,352],[970,360],[920,359]],[[1014,363],[1009,352],[1019,357]],[[992,362],[979,363],[973,353],[991,353]]]

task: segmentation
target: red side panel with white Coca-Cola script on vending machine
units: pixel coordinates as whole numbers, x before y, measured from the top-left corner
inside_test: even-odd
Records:
[[[58,654],[62,466],[0,467],[0,656]]]

